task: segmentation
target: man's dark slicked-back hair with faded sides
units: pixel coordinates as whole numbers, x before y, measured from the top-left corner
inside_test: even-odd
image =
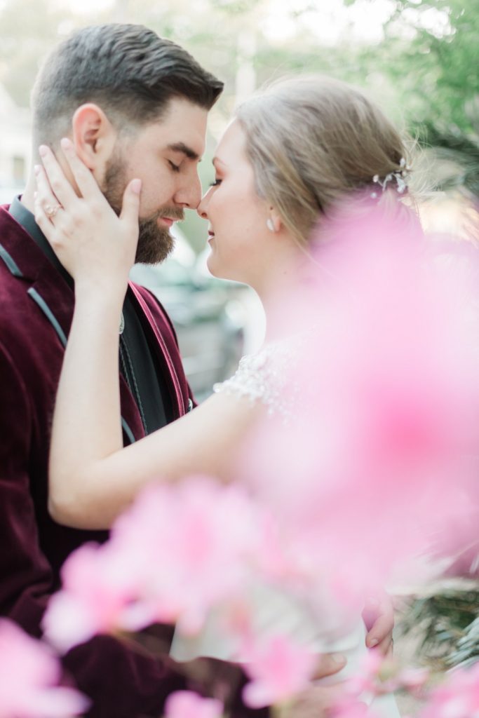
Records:
[[[179,45],[143,25],[85,27],[47,57],[32,93],[37,144],[58,141],[76,108],[98,104],[108,119],[142,126],[161,118],[172,98],[209,110],[223,83]]]

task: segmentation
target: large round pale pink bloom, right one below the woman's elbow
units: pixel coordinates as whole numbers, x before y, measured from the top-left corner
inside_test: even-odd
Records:
[[[260,531],[245,491],[191,477],[176,487],[150,485],[119,518],[112,542],[134,564],[157,620],[195,633],[211,607],[241,591]]]

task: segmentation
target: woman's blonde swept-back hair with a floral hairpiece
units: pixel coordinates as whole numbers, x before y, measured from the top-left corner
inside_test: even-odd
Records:
[[[401,137],[350,85],[321,76],[279,80],[243,103],[236,118],[256,191],[302,245],[320,215],[329,216],[355,190],[368,190],[385,204],[400,196],[397,177],[407,159]],[[390,178],[387,191],[373,182],[394,172],[400,174]]]

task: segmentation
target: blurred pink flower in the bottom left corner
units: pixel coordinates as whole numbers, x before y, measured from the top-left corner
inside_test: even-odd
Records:
[[[0,718],[69,718],[88,699],[58,686],[61,667],[52,651],[17,625],[0,619]]]

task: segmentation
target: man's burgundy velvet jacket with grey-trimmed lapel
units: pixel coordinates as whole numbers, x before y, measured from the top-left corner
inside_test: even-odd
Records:
[[[152,294],[131,289],[175,415],[182,416],[192,397],[172,325]],[[60,526],[47,510],[52,411],[73,302],[62,276],[0,207],[0,614],[35,636],[68,554],[85,541],[107,538],[103,531]],[[144,436],[123,378],[121,413],[125,443]],[[157,717],[164,698],[185,687],[166,656],[140,656],[108,637],[75,648],[65,666],[93,699],[91,718]],[[238,704],[233,714],[243,715],[243,707]]]

